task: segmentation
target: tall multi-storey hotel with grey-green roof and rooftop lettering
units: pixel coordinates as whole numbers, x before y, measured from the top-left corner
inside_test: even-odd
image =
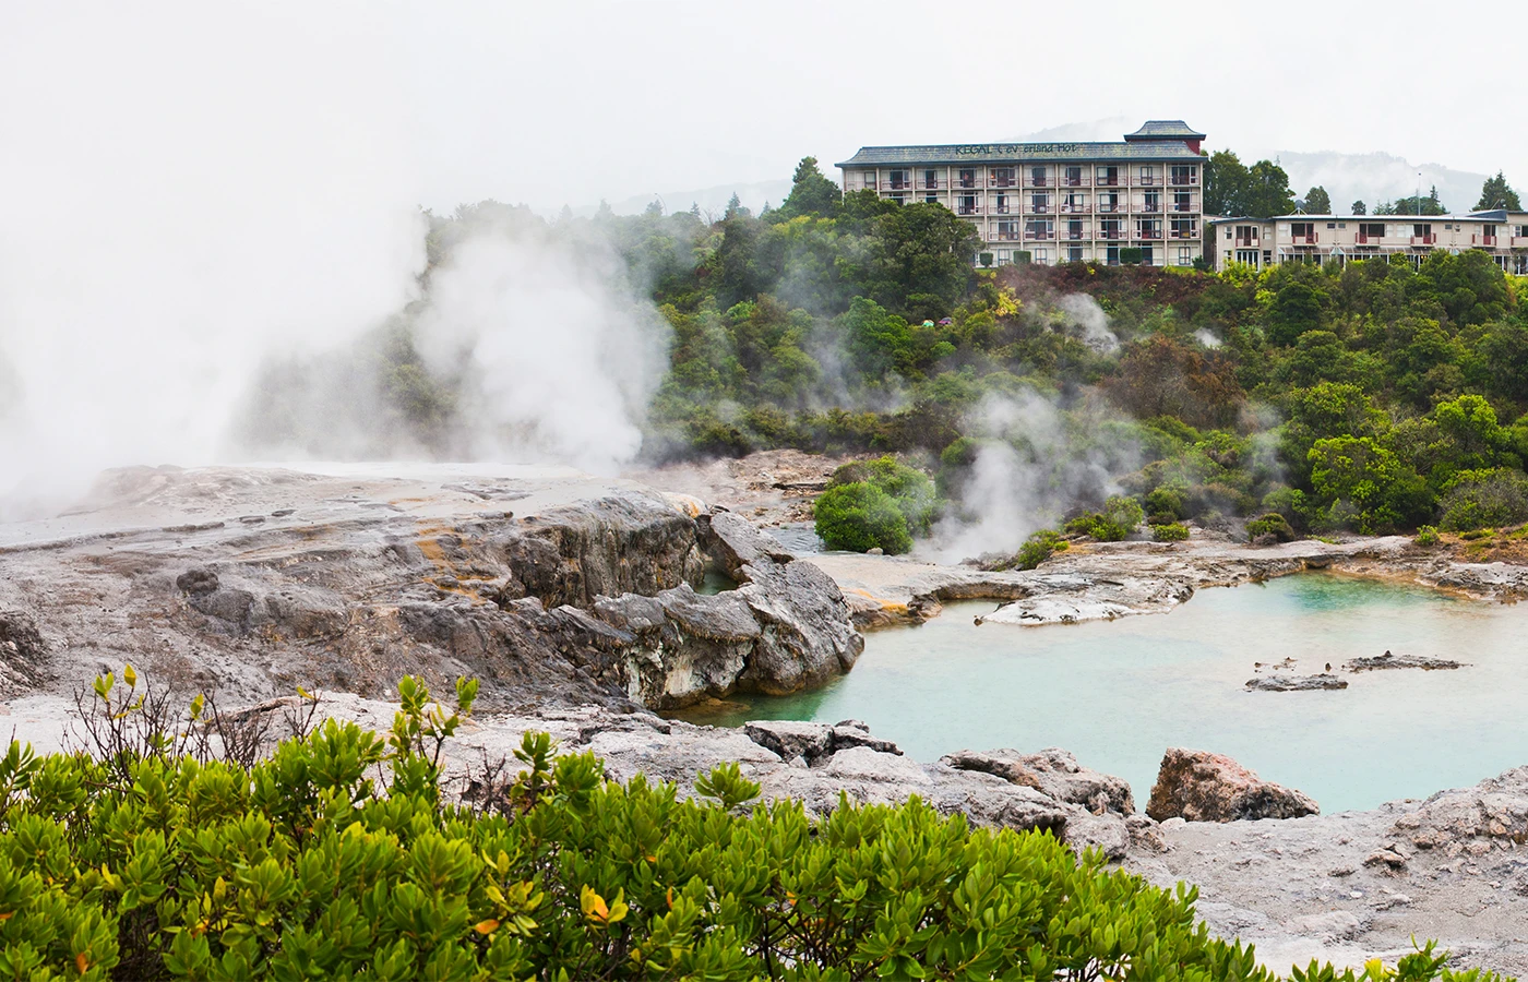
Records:
[[[1123,142],[862,147],[843,191],[943,205],[976,226],[993,263],[1190,266],[1204,249],[1203,133],[1154,119]],[[976,257],[973,257],[976,258]]]

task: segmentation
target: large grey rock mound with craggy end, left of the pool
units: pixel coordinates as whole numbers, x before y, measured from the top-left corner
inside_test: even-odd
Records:
[[[69,516],[0,527],[0,609],[37,634],[0,661],[64,687],[131,661],[228,703],[417,674],[478,677],[484,707],[630,710],[795,692],[859,657],[833,580],[738,516],[573,472],[414,467],[113,472]],[[738,588],[698,593],[707,565]]]

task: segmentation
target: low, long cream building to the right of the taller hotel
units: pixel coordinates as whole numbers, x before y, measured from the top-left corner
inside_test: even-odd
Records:
[[[1433,250],[1484,249],[1504,272],[1528,275],[1528,214],[1277,215],[1212,218],[1206,247],[1216,269],[1244,263],[1349,263],[1404,255],[1420,264]]]

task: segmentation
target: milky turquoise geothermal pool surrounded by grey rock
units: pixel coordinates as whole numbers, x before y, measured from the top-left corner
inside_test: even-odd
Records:
[[[903,753],[1063,747],[1146,806],[1166,747],[1225,753],[1323,812],[1424,797],[1528,764],[1528,605],[1308,573],[1204,590],[1169,614],[975,626],[992,602],[866,635],[847,677],[694,722],[863,719]],[[1360,655],[1436,655],[1458,670],[1342,674],[1335,692],[1245,692],[1253,663],[1297,674]],[[1267,669],[1265,669],[1267,670]]]

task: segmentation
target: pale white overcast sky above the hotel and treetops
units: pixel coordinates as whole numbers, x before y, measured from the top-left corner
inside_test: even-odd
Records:
[[[183,89],[156,93],[173,113],[182,96],[215,98],[241,66],[231,111],[252,111],[251,73],[313,58],[361,66],[344,79],[312,64],[296,73],[351,89],[364,79],[364,96],[342,96],[364,102],[365,125],[336,128],[402,154],[390,166],[406,168],[434,208],[484,197],[578,206],[781,179],[804,154],[827,165],[865,144],[1012,139],[1122,116],[1183,118],[1212,148],[1244,156],[1384,150],[1528,183],[1528,128],[1513,108],[1522,69],[1502,40],[1522,24],[1502,3],[5,6],[0,58],[24,52],[32,66],[5,98],[49,98],[60,115],[73,107],[47,95],[50,73],[75,76],[69,95],[89,98],[183,66]],[[249,31],[252,18],[280,29]],[[90,34],[115,53],[81,44]],[[322,43],[303,41],[313,37]],[[290,98],[290,86],[272,86],[270,111],[252,125],[280,128]],[[53,151],[0,153],[17,150]]]

